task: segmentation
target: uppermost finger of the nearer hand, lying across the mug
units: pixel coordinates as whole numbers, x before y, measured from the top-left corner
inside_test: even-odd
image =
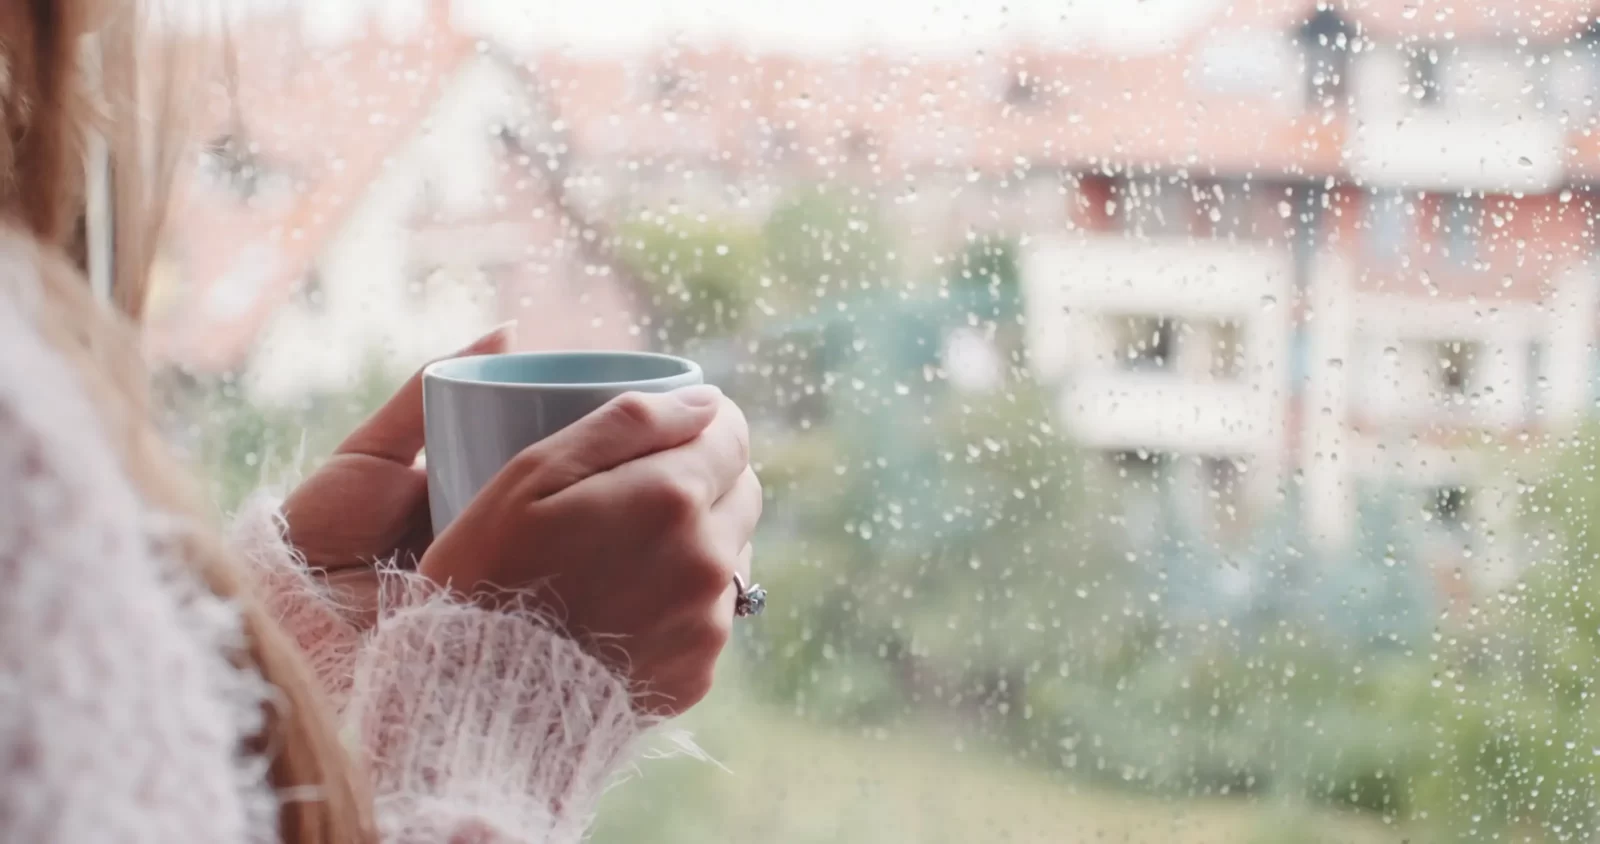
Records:
[[[538,467],[534,499],[694,440],[717,419],[723,401],[722,390],[709,384],[613,398],[598,411],[528,446],[523,454]]]

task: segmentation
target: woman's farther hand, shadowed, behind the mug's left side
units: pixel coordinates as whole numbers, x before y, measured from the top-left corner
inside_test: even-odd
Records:
[[[501,326],[448,356],[496,355],[506,345]],[[290,494],[288,539],[309,566],[338,572],[422,556],[434,539],[427,473],[416,465],[422,432],[419,371]]]

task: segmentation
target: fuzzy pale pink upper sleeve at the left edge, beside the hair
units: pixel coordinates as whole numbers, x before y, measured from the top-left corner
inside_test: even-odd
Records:
[[[0,841],[275,834],[266,687],[0,269]],[[26,281],[26,280],[24,280]]]

